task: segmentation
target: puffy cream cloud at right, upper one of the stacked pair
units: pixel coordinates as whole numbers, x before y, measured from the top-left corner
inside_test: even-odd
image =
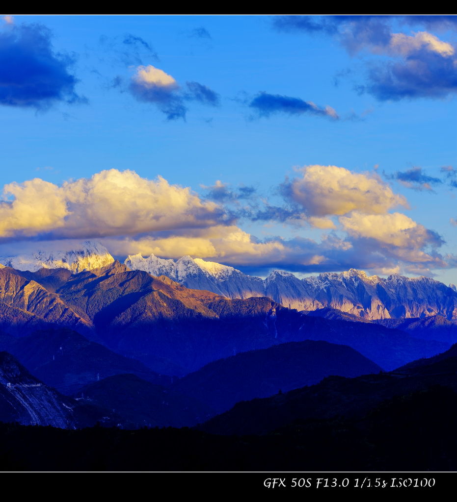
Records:
[[[320,165],[306,166],[297,172],[302,176],[287,180],[282,191],[310,216],[343,215],[353,210],[382,214],[394,206],[408,207],[405,197],[394,194],[375,174]]]

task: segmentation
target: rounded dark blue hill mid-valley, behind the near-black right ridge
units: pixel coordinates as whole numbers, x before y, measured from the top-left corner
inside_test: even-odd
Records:
[[[306,340],[219,359],[173,382],[172,389],[222,413],[238,401],[314,385],[328,375],[359,376],[381,370],[346,345]]]

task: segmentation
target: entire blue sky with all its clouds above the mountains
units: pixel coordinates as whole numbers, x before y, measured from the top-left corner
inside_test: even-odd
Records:
[[[0,254],[457,282],[457,17],[15,16]]]

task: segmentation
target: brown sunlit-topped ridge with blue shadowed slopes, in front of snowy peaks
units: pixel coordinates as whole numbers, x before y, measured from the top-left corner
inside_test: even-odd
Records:
[[[0,308],[20,309],[5,315],[5,331],[63,324],[159,373],[180,376],[238,352],[306,339],[349,345],[388,370],[449,347],[374,324],[303,315],[266,297],[231,300],[189,290],[119,262],[70,276],[61,269],[25,273],[30,280],[8,268],[0,274]]]

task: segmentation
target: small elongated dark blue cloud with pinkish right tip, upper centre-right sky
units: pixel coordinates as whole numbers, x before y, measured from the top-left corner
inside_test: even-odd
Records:
[[[259,92],[248,106],[256,111],[258,117],[269,117],[274,113],[286,113],[288,115],[312,115],[328,116],[333,119],[339,118],[335,110],[330,106],[321,108],[312,102],[279,94],[267,94]]]

